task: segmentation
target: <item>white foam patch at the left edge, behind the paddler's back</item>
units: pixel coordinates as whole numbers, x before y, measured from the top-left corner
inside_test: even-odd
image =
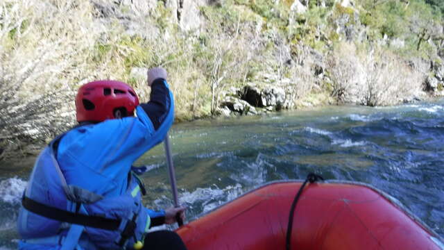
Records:
[[[23,191],[26,188],[26,181],[20,178],[8,178],[0,182],[0,199],[3,202],[16,204],[20,203]]]

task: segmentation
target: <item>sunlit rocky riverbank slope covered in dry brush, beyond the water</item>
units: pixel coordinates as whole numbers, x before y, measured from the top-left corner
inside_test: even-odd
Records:
[[[18,1],[0,6],[0,159],[75,124],[96,79],[148,100],[169,72],[176,120],[443,94],[440,6],[384,1]],[[25,153],[26,154],[26,153]]]

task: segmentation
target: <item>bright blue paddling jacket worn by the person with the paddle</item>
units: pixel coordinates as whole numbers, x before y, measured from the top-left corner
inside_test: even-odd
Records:
[[[53,140],[36,160],[24,206],[63,210],[60,214],[70,213],[74,221],[22,207],[17,221],[23,238],[19,248],[131,249],[135,242],[143,242],[151,220],[164,212],[144,208],[144,187],[131,166],[164,140],[173,113],[167,82],[157,79],[151,101],[137,106],[136,117],[78,126]],[[110,222],[113,229],[76,224],[80,222],[75,216],[83,215],[89,216],[87,221],[98,219],[99,226]]]

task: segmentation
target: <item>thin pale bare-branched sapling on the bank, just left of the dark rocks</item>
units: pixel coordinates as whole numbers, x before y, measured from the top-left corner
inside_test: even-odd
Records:
[[[221,92],[228,85],[245,83],[252,72],[250,65],[259,47],[254,38],[253,24],[230,8],[214,11],[204,8],[208,25],[205,36],[200,35],[203,47],[196,61],[203,70],[211,90],[211,113],[219,107]]]

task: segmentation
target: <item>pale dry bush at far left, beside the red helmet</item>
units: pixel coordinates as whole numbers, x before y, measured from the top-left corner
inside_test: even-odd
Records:
[[[0,3],[1,148],[72,124],[71,86],[99,34],[92,13],[89,1]]]

